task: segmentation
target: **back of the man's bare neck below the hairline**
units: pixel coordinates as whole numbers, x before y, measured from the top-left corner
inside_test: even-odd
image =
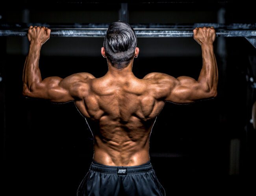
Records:
[[[127,67],[123,68],[123,69],[117,69],[115,67],[113,67],[113,65],[111,65],[110,62],[108,62],[108,75],[112,75],[112,76],[123,76],[123,77],[127,77],[127,76],[134,76],[134,74],[132,73],[132,65],[133,65],[133,60],[131,60],[131,62],[128,64]]]

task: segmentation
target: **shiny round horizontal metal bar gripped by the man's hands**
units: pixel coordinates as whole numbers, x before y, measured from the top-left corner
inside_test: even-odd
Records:
[[[51,29],[54,37],[104,37],[106,28],[95,29]],[[190,30],[134,29],[137,37],[193,37]],[[27,36],[27,29],[0,30],[0,36]],[[256,30],[223,30],[216,32],[217,37],[256,37]]]

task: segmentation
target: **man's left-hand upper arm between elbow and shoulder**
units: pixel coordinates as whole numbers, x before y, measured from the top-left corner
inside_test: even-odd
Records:
[[[63,80],[59,77],[48,77],[40,83],[34,84],[31,96],[36,98],[48,99],[52,102],[69,102],[74,100],[68,89],[59,85]]]

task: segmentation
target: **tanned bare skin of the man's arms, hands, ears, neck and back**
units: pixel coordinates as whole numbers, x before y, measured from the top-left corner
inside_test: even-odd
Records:
[[[108,61],[108,72],[101,78],[77,73],[67,78],[42,80],[39,70],[41,46],[50,38],[47,27],[30,27],[30,50],[23,71],[23,95],[52,102],[74,101],[80,113],[93,122],[96,162],[113,166],[141,165],[150,160],[150,132],[166,101],[191,103],[217,96],[218,69],[213,53],[215,30],[199,27],[194,39],[202,47],[202,70],[198,80],[149,73],[143,79],[128,67],[116,69]],[[102,56],[106,57],[104,47]],[[137,57],[139,49],[135,49]],[[192,66],[192,65],[191,65]]]

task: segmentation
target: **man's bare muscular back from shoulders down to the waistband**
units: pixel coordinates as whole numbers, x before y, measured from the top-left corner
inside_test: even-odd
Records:
[[[164,106],[154,91],[155,80],[133,74],[87,80],[82,100],[75,104],[96,122],[94,160],[106,165],[138,165],[149,160],[149,136]],[[95,124],[95,123],[94,123]]]

